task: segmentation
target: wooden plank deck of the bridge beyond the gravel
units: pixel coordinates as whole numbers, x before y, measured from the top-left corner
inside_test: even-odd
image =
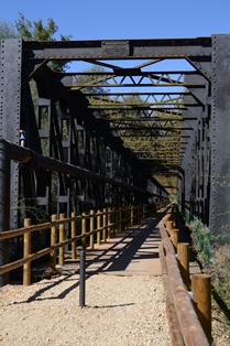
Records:
[[[86,274],[103,273],[114,275],[161,275],[158,245],[161,234],[157,224],[164,213],[152,217],[116,235],[106,242],[95,245],[86,251]],[[190,262],[191,272],[199,272],[198,264]],[[77,272],[79,258],[66,258],[61,271]]]

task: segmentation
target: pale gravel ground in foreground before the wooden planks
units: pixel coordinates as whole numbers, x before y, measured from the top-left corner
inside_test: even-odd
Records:
[[[0,345],[171,345],[161,277],[78,274],[0,289]]]

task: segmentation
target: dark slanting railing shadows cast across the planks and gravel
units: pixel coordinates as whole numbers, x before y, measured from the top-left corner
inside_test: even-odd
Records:
[[[117,235],[102,246],[107,246],[106,249],[94,249],[87,250],[86,259],[86,280],[90,275],[105,272],[105,271],[123,271],[131,263],[131,261],[157,257],[158,253],[151,252],[153,247],[158,248],[158,241],[161,241],[160,230],[156,229],[157,224],[165,215],[165,212],[158,212],[152,217],[143,220],[142,223],[125,229],[122,234]],[[116,238],[121,238],[116,241]],[[155,242],[155,245],[154,245]],[[102,248],[102,247],[101,247]],[[90,255],[94,252],[94,258],[90,259]],[[98,252],[98,255],[97,255]],[[96,253],[96,255],[95,255]],[[70,269],[68,268],[70,264]],[[90,267],[96,264],[95,270],[90,270]],[[110,266],[109,266],[110,264]],[[35,294],[30,296],[25,302],[30,303],[39,300],[56,300],[64,299],[70,291],[79,286],[79,278],[73,278],[79,274],[79,259],[70,260],[66,259],[65,266],[61,269],[61,277],[56,281],[51,281],[46,286],[41,288]],[[108,268],[109,266],[109,268]],[[62,291],[62,283],[64,281],[74,281],[67,289]],[[53,288],[59,286],[59,294],[56,296],[43,298],[42,294],[52,290]],[[14,304],[22,304],[25,302],[14,302]]]

